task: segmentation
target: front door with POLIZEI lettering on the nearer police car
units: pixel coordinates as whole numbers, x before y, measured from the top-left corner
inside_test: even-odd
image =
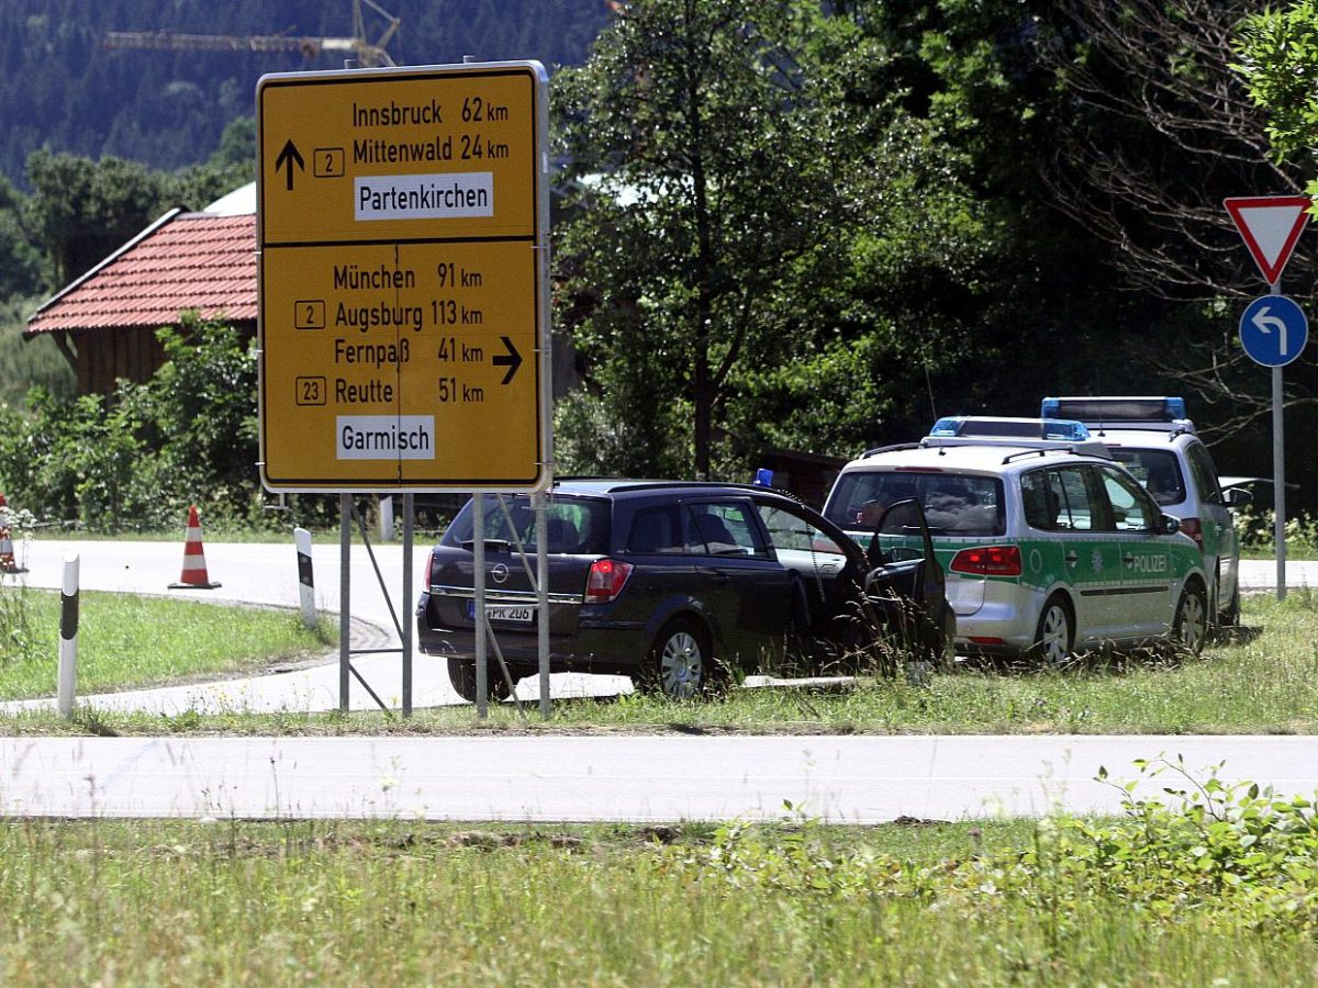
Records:
[[[1161,512],[1148,491],[1130,474],[1099,468],[1114,524],[1122,540],[1122,586],[1112,589],[1120,623],[1115,638],[1162,634],[1172,620],[1172,565],[1160,534]]]

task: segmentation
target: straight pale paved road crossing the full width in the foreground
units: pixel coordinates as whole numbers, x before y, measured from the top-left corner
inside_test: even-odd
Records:
[[[482,821],[1119,813],[1137,757],[1318,790],[1318,738],[0,738],[0,815]],[[1136,794],[1160,796],[1162,782]]]

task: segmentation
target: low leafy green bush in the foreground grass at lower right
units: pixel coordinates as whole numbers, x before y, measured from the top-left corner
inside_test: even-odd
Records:
[[[1136,798],[1140,780],[1118,785],[1124,818],[1048,817],[1024,848],[977,852],[921,867],[871,850],[845,852],[817,821],[795,814],[787,837],[729,823],[708,847],[660,852],[660,867],[696,867],[706,879],[779,896],[882,897],[983,914],[1023,904],[1057,948],[1119,901],[1149,923],[1193,918],[1222,934],[1313,937],[1318,930],[1318,821],[1304,797],[1251,782],[1199,781],[1181,759],[1136,761],[1161,794]]]

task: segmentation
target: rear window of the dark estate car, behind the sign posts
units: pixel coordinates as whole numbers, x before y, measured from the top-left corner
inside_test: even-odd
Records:
[[[534,551],[536,540],[535,510],[526,494],[505,494],[505,512],[500,507],[497,494],[484,494],[485,499],[485,539],[506,541],[511,548],[521,541],[527,552]],[[588,553],[602,556],[609,552],[609,502],[597,498],[577,498],[564,494],[551,494],[547,508],[550,552]],[[453,523],[444,532],[444,545],[471,544],[472,502],[467,502]],[[510,527],[511,523],[511,527]],[[515,536],[515,537],[514,537]]]

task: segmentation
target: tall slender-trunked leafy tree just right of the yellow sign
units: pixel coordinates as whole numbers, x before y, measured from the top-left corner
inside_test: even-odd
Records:
[[[709,474],[729,374],[764,340],[759,306],[833,207],[807,148],[816,107],[803,99],[797,7],[627,4],[588,66],[556,87],[563,149],[577,174],[602,170],[594,198],[609,203],[583,213],[565,250],[588,279],[610,266],[633,288],[610,292],[592,328],[650,337],[648,348],[630,340],[625,358],[655,375],[670,414],[675,400],[689,407],[699,476]],[[588,225],[610,241],[587,244]]]

